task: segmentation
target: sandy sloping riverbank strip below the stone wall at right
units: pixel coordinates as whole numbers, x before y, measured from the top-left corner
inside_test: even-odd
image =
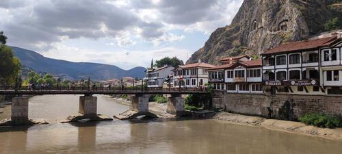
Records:
[[[266,129],[272,129],[277,131],[287,131],[290,133],[300,133],[308,136],[317,136],[322,138],[328,138],[330,140],[342,140],[342,128],[328,129],[314,126],[308,126],[304,123],[267,119],[257,116],[245,116],[241,114],[231,114],[228,112],[219,112],[213,116],[215,120],[224,120],[229,123],[235,123],[238,125],[251,125],[260,126]]]

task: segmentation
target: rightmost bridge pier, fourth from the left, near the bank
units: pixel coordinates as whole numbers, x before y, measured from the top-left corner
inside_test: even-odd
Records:
[[[168,108],[166,109],[166,112],[176,116],[189,114],[189,112],[184,110],[184,99],[181,97],[181,94],[171,94],[170,97],[168,97]]]

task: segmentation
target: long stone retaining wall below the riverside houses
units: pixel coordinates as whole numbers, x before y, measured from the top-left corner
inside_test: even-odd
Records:
[[[342,97],[295,94],[230,94],[217,92],[213,107],[239,114],[296,120],[306,113],[322,112],[342,117]]]

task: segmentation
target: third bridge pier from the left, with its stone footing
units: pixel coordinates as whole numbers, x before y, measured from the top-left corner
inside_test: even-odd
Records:
[[[148,112],[148,94],[134,94],[131,96],[130,110],[114,116],[120,120],[131,119],[137,116],[156,118],[157,115]]]

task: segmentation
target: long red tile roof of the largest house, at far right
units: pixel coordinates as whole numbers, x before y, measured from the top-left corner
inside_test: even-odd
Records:
[[[315,40],[303,40],[297,42],[289,42],[286,44],[280,44],[278,47],[274,47],[262,53],[261,55],[267,55],[272,53],[282,53],[289,51],[300,51],[300,50],[308,50],[308,49],[317,49],[319,47],[324,47],[331,42],[337,40],[336,36],[328,37],[328,38],[319,38]]]

